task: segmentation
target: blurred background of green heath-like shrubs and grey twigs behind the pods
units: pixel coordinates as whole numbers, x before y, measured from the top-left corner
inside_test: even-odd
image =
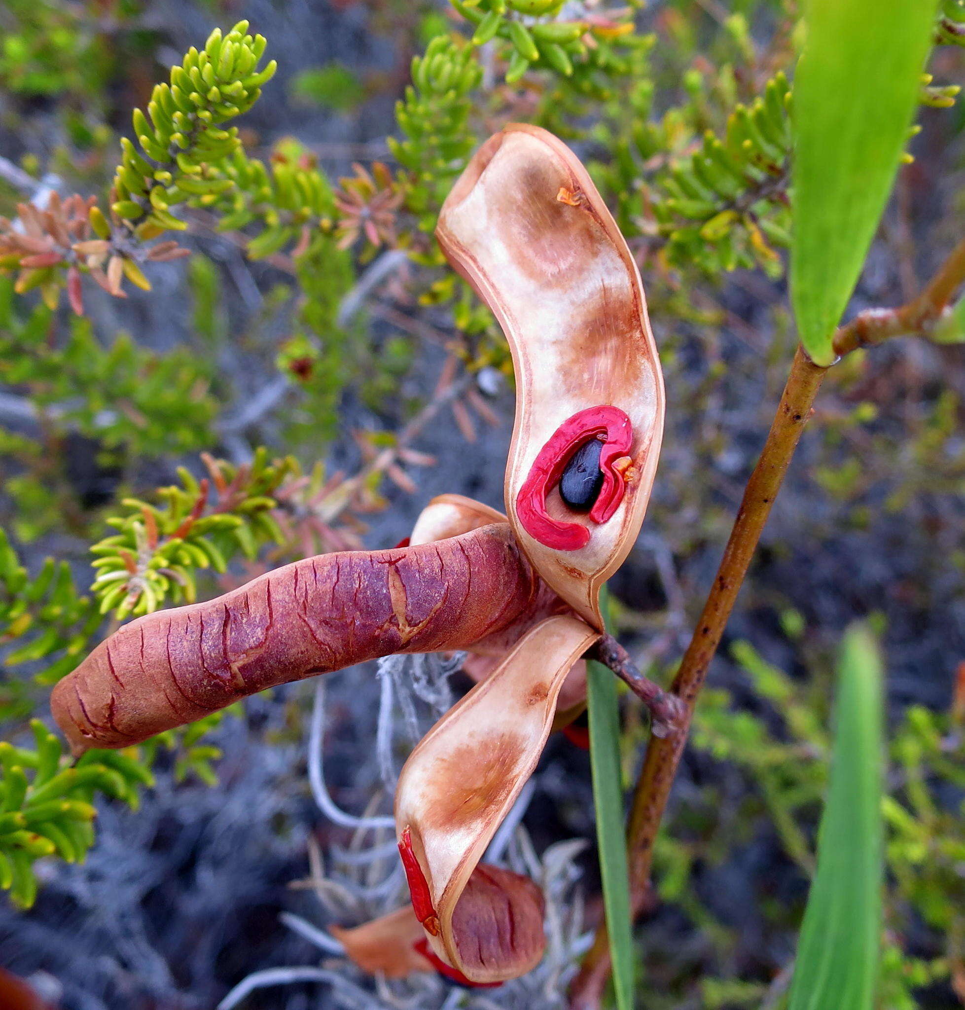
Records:
[[[279,915],[332,921],[289,885],[351,831],[305,782],[310,688],[77,769],[44,727],[46,692],[134,614],[392,545],[433,494],[501,507],[508,349],[431,230],[508,121],[574,147],[640,264],[667,433],[612,589],[639,665],[672,673],[794,346],[797,15],[790,0],[7,0],[0,964],[68,1008],[187,1010],[255,969],[317,962]],[[961,235],[960,4],[936,40],[853,310],[913,297]],[[891,739],[880,1006],[965,1003],[963,396],[960,350],[937,342],[857,351],[827,380],[699,709],[638,931],[641,1005],[783,1005],[834,654],[866,615]],[[329,785],[362,811],[382,781],[380,680],[328,690]],[[623,704],[629,783],[646,726]],[[593,838],[589,797],[585,754],[554,739],[523,820],[536,852]],[[593,851],[572,858],[592,898]],[[343,923],[377,886],[351,885]],[[245,1006],[393,1005],[338,971],[350,997],[296,985]],[[512,985],[487,999],[534,1005]]]

